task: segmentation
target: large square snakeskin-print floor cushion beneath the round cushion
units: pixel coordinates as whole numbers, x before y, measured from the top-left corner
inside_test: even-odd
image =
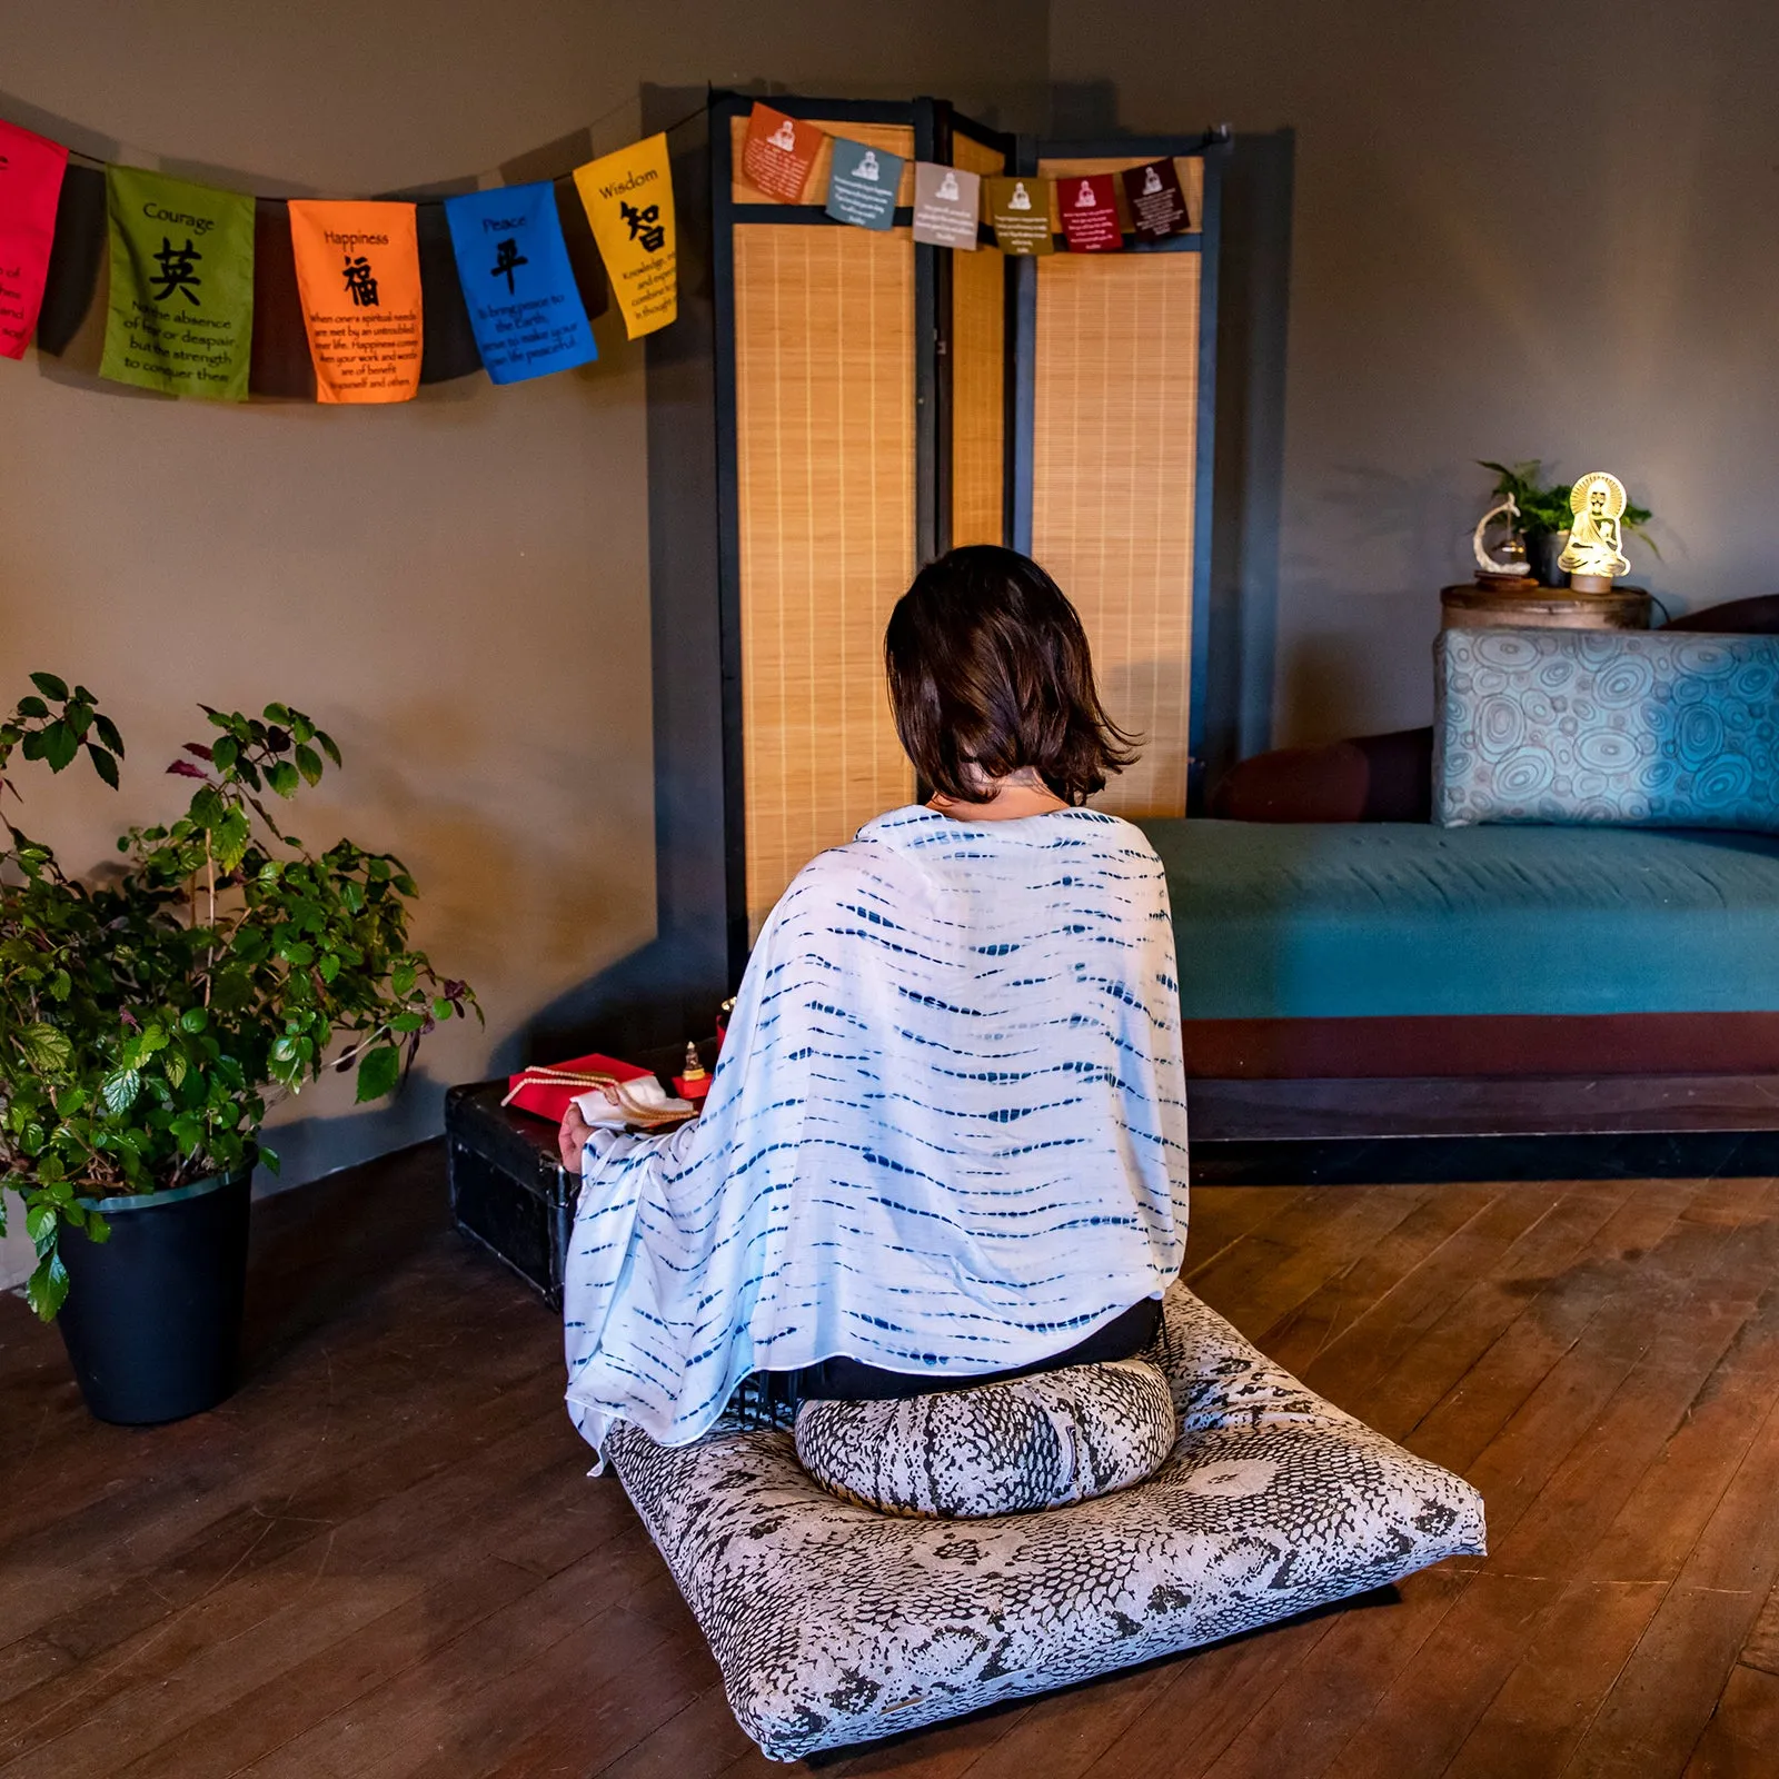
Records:
[[[1146,1482],[998,1519],[829,1494],[788,1430],[610,1466],[774,1759],[890,1736],[1235,1637],[1480,1555],[1482,1496],[1256,1352],[1183,1284],[1147,1357],[1179,1432]]]

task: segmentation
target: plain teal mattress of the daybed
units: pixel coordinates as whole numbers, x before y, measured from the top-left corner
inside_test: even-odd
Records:
[[[1779,1010],[1779,838],[1142,824],[1188,1019]]]

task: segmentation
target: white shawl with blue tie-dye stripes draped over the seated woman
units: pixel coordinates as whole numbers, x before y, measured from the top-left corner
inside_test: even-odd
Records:
[[[1160,1297],[1185,1240],[1149,841],[895,809],[772,911],[704,1115],[587,1146],[569,1413],[594,1448],[614,1421],[687,1445],[756,1370],[1030,1364]]]

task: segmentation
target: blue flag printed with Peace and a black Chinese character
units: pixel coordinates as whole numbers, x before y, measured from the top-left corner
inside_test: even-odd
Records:
[[[495,382],[525,382],[600,356],[550,180],[447,197],[445,219],[470,327]]]

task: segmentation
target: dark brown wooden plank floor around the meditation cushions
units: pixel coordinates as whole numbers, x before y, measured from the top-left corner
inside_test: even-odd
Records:
[[[434,1151],[256,1210],[251,1381],[85,1418],[0,1299],[0,1775],[779,1770]],[[824,1775],[1779,1774],[1779,1188],[1219,1188],[1188,1274],[1491,1555]]]

